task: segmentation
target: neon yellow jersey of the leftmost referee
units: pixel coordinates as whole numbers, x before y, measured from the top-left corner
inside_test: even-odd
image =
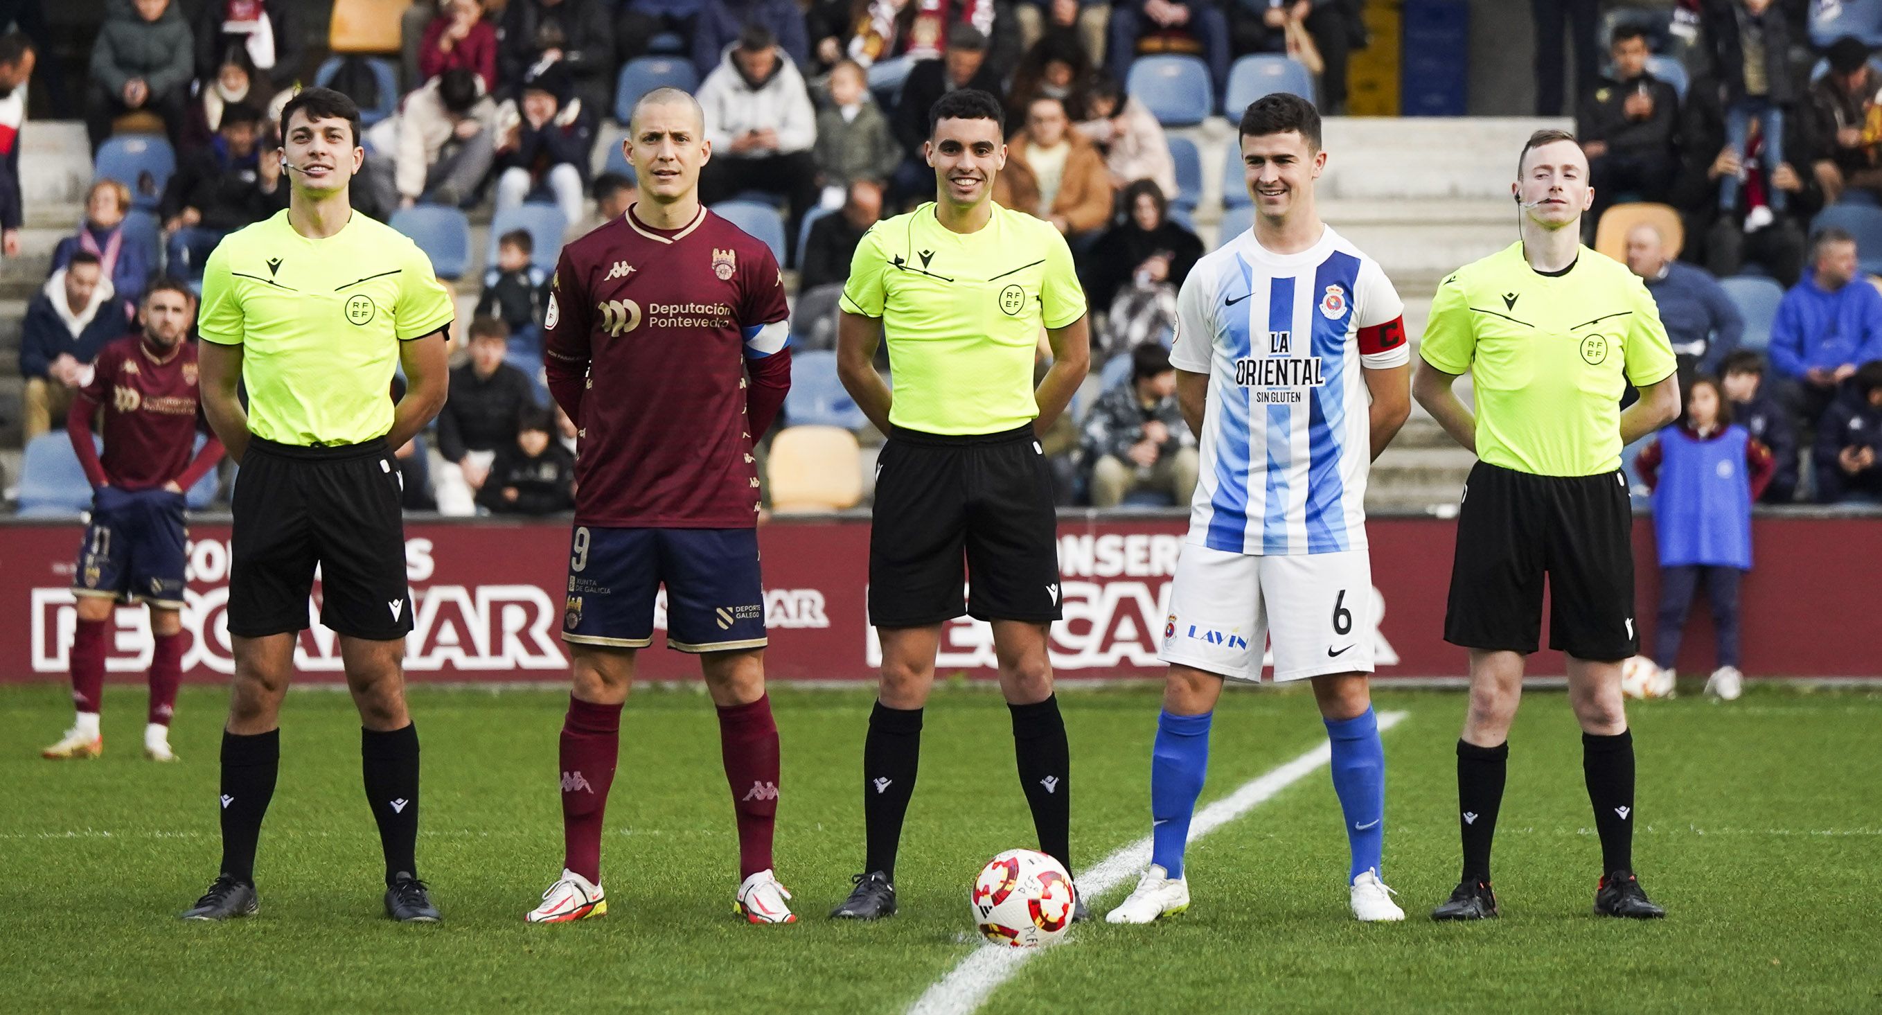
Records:
[[[452,294],[431,258],[358,211],[309,239],[275,213],[203,266],[203,341],[243,346],[248,431],[282,444],[358,444],[391,429],[399,343],[444,328]]]

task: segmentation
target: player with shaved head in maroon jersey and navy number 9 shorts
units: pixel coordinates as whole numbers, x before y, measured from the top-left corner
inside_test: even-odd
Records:
[[[790,388],[785,286],[772,250],[698,200],[711,158],[698,102],[634,104],[640,201],[563,249],[542,331],[550,392],[576,422],[576,525],[563,640],[574,689],[561,736],[563,876],[523,919],[608,911],[600,834],[634,655],[700,657],[738,815],[738,911],[792,923],[772,874],[777,725],[764,695],[755,443]]]

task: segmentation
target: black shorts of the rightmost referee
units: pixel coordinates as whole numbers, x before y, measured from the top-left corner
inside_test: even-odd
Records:
[[[1613,661],[1634,629],[1634,512],[1620,473],[1538,476],[1479,461],[1457,516],[1443,640],[1536,652],[1549,576],[1549,648]]]

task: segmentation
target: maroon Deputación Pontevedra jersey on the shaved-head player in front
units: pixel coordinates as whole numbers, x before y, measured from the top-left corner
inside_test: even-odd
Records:
[[[704,209],[679,230],[629,209],[563,247],[542,333],[550,390],[580,429],[576,524],[755,525],[745,339],[787,314],[770,247]]]

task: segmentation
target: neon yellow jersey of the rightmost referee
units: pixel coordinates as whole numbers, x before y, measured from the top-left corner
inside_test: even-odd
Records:
[[[1521,241],[1438,286],[1419,356],[1472,377],[1477,458],[1539,476],[1619,469],[1622,392],[1675,369],[1660,307],[1626,266],[1583,247],[1543,275]]]

